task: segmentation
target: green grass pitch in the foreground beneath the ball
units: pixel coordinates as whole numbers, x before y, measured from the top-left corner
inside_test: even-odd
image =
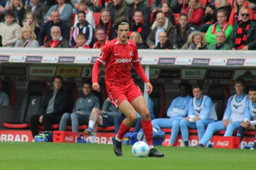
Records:
[[[163,158],[135,158],[131,147],[117,157],[106,144],[0,142],[0,170],[256,169],[256,150],[156,146]]]

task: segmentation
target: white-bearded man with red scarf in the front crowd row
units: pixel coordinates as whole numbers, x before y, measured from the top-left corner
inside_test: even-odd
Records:
[[[51,39],[44,44],[46,48],[70,48],[69,42],[61,36],[61,28],[52,26]]]

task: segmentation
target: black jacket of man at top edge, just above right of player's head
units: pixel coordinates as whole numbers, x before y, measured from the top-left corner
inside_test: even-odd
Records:
[[[129,19],[129,21],[132,21],[132,17],[134,14],[132,14],[134,8],[134,3],[129,5],[125,10],[125,17]],[[149,23],[150,20],[150,8],[148,6],[145,6],[143,3],[138,3],[136,10],[142,11],[144,20]]]

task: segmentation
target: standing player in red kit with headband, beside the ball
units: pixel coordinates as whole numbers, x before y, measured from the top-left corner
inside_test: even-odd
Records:
[[[164,154],[153,148],[153,127],[145,99],[140,89],[131,79],[131,64],[137,74],[146,83],[150,94],[153,90],[151,83],[145,75],[138,58],[137,46],[128,40],[129,23],[125,17],[115,20],[114,28],[117,38],[104,45],[99,57],[93,66],[93,90],[100,91],[98,84],[99,68],[106,63],[105,82],[108,96],[113,105],[125,114],[126,119],[122,122],[117,135],[113,136],[114,152],[122,156],[122,137],[127,133],[137,119],[136,111],[142,117],[141,124],[146,142],[150,147],[149,157],[163,157]]]

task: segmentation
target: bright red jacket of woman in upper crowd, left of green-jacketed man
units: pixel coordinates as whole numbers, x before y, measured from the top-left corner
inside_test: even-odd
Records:
[[[183,14],[188,14],[189,7],[186,7],[186,9],[183,11]],[[195,8],[191,11],[191,15],[189,17],[189,23],[192,23],[196,27],[199,27],[203,24],[203,17],[204,17],[204,10],[199,7]]]

